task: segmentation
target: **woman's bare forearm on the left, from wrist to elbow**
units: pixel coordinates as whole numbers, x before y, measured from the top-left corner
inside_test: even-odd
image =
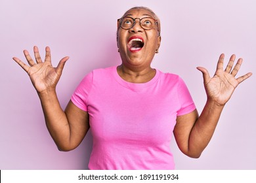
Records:
[[[39,98],[51,137],[59,149],[67,149],[70,145],[70,125],[55,90],[39,93]]]

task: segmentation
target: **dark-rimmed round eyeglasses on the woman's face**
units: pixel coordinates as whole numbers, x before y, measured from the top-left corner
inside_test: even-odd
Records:
[[[139,19],[140,26],[143,29],[150,30],[150,29],[153,29],[155,26],[158,27],[158,20],[155,20],[154,18],[151,18],[151,17],[131,18],[129,16],[125,16],[123,18],[119,18],[117,22],[119,22],[119,25],[121,28],[131,29],[135,25],[136,19]]]

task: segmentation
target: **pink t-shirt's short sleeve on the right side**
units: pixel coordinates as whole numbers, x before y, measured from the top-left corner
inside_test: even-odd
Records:
[[[177,111],[177,116],[182,116],[184,114],[188,114],[193,110],[195,110],[196,105],[194,105],[194,101],[182,78],[179,77],[178,82],[179,84],[177,87],[177,93],[179,96],[179,102],[180,102],[181,108]]]

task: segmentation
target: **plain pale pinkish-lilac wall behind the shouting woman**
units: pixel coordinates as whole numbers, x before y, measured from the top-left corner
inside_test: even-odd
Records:
[[[185,80],[201,112],[202,74],[213,75],[219,55],[244,58],[239,75],[251,71],[224,108],[213,139],[200,159],[171,148],[177,169],[256,169],[256,3],[255,1],[0,1],[0,169],[87,169],[91,133],[72,152],[59,152],[43,118],[28,75],[14,62],[39,46],[50,46],[53,65],[70,60],[58,84],[66,107],[79,81],[92,69],[119,65],[116,24],[134,6],[152,8],[161,19],[161,47],[152,66]]]

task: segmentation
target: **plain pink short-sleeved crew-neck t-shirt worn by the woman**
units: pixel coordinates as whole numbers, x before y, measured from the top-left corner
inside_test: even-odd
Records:
[[[123,80],[116,67],[85,76],[72,102],[89,113],[89,169],[174,169],[176,118],[196,108],[179,76],[156,69],[152,80],[136,84]]]

